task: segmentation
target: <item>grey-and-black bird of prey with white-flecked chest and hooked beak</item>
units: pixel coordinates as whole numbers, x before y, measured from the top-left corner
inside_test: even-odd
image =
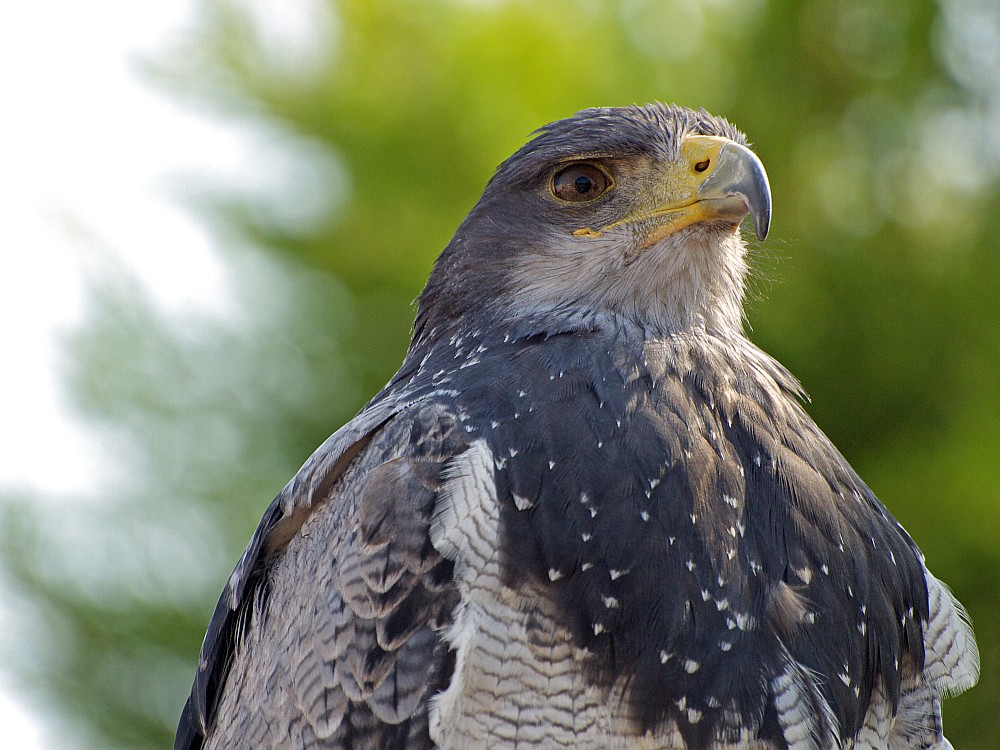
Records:
[[[770,210],[703,110],[536,133],[265,512],[175,747],[951,747],[965,614],[745,335]]]

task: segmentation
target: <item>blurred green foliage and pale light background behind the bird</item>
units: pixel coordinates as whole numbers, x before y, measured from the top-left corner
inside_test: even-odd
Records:
[[[58,40],[125,6],[94,7],[108,17],[35,27],[56,76],[80,64],[60,50],[100,54]],[[42,480],[0,487],[3,684],[43,743],[170,744],[259,514],[395,371],[412,300],[492,169],[550,120],[658,99],[755,143],[775,209],[751,336],[967,605],[983,677],[947,702],[946,729],[1000,747],[1000,4],[190,0],[170,28],[140,40],[129,75],[211,123],[192,138],[238,133],[243,168],[160,183],[209,238],[198,252],[155,220],[110,241],[128,203],[45,214],[85,259],[56,373],[87,447],[36,446]],[[86,89],[32,95],[53,144],[100,122]],[[128,133],[109,162],[183,162],[176,139],[106,126]],[[28,294],[55,305],[59,273]],[[167,276],[200,301],[165,299]],[[84,486],[60,484],[81,461]]]

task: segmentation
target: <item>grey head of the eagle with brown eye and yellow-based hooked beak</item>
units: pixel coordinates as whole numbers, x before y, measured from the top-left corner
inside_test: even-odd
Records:
[[[507,159],[438,258],[416,338],[459,318],[620,315],[657,335],[743,323],[751,216],[771,193],[746,137],[704,110],[587,109]]]

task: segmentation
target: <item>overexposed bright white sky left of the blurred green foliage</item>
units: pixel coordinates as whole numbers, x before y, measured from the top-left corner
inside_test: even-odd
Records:
[[[168,307],[213,305],[224,274],[208,237],[173,207],[168,178],[232,174],[245,139],[143,82],[192,0],[0,4],[0,487],[86,494],[96,448],[66,413],[55,334],[79,319],[82,278],[109,250]],[[58,462],[53,461],[58,456]],[[58,473],[52,466],[59,466]],[[0,602],[2,602],[0,595]],[[0,633],[4,627],[0,611]],[[62,746],[0,672],[9,747]]]

